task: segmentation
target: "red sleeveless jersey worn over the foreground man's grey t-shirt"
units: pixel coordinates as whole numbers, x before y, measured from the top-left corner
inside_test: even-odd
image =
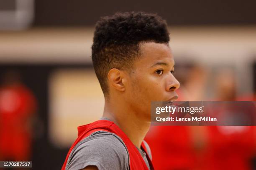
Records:
[[[82,139],[91,135],[93,132],[96,132],[99,130],[115,133],[123,140],[123,142],[125,143],[125,146],[128,149],[128,153],[130,157],[130,170],[148,170],[148,167],[145,161],[143,160],[141,154],[139,153],[138,149],[135,147],[135,145],[133,145],[133,143],[128,138],[128,136],[125,135],[125,133],[117,125],[115,125],[114,122],[109,120],[98,120],[88,125],[79,126],[77,129],[78,129],[78,138],[70,148],[61,170],[65,170],[67,160],[74,146],[77,145],[77,143],[79,143],[79,141],[81,141]],[[146,151],[146,147],[144,144],[142,144],[141,147],[143,148],[143,150]],[[154,170],[154,167],[147,153],[146,153],[146,157],[148,159],[149,165],[151,166],[151,170]]]

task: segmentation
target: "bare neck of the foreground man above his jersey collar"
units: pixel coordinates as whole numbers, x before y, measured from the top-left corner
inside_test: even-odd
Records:
[[[122,107],[123,106],[123,107]],[[103,117],[113,121],[128,136],[131,142],[141,148],[141,143],[150,128],[150,122],[140,120],[131,109],[124,105],[105,102]]]

